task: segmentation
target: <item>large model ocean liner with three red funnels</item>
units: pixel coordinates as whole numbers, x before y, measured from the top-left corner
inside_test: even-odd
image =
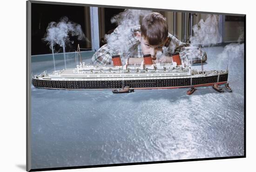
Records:
[[[121,64],[120,55],[112,57],[113,65],[90,65],[80,63],[53,73],[46,71],[34,75],[32,84],[47,89],[112,89],[113,93],[130,93],[133,89],[191,88],[227,84],[228,70],[198,71],[190,63],[173,54],[172,63],[153,63],[151,55],[144,55],[141,64]],[[228,85],[227,89],[230,88]],[[118,90],[121,89],[121,90]],[[231,89],[230,89],[231,90]]]

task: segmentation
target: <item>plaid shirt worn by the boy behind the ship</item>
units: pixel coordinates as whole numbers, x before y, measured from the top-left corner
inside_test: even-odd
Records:
[[[118,26],[113,33],[110,34],[111,41],[108,44],[101,46],[92,57],[93,63],[110,64],[112,56],[119,54],[121,59],[129,57],[143,57],[141,50],[141,42],[136,37],[136,32],[140,32],[141,26],[125,27]],[[122,47],[125,47],[124,52]],[[163,55],[171,56],[172,53],[180,53],[182,60],[188,60],[191,63],[201,63],[207,60],[205,52],[197,47],[192,47],[187,43],[183,43],[168,33],[168,40],[163,46]]]

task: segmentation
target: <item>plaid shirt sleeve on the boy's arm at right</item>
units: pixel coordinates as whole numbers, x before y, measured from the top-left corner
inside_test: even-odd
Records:
[[[179,52],[182,60],[188,60],[191,63],[201,63],[201,59],[202,62],[207,60],[207,55],[204,51],[198,47],[190,46],[188,43],[183,43],[170,33],[168,34],[168,41],[165,46],[167,47],[165,54],[168,56],[171,56],[172,53]]]

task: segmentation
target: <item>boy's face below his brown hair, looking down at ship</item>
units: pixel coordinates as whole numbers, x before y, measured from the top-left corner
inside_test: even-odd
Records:
[[[160,45],[152,46],[149,45],[148,42],[144,39],[143,36],[140,36],[139,40],[141,41],[141,50],[143,54],[151,54],[152,59],[156,59],[156,53],[158,51],[162,52],[162,47],[165,45],[166,40],[162,42]]]

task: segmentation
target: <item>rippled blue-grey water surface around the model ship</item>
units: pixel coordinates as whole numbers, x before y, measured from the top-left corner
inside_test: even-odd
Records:
[[[228,60],[217,58],[222,50],[205,49],[205,70],[226,69]],[[52,63],[35,62],[32,70],[52,70]],[[211,87],[189,96],[185,88],[113,94],[32,86],[32,168],[241,156],[243,70],[243,57],[229,64],[233,93]]]

